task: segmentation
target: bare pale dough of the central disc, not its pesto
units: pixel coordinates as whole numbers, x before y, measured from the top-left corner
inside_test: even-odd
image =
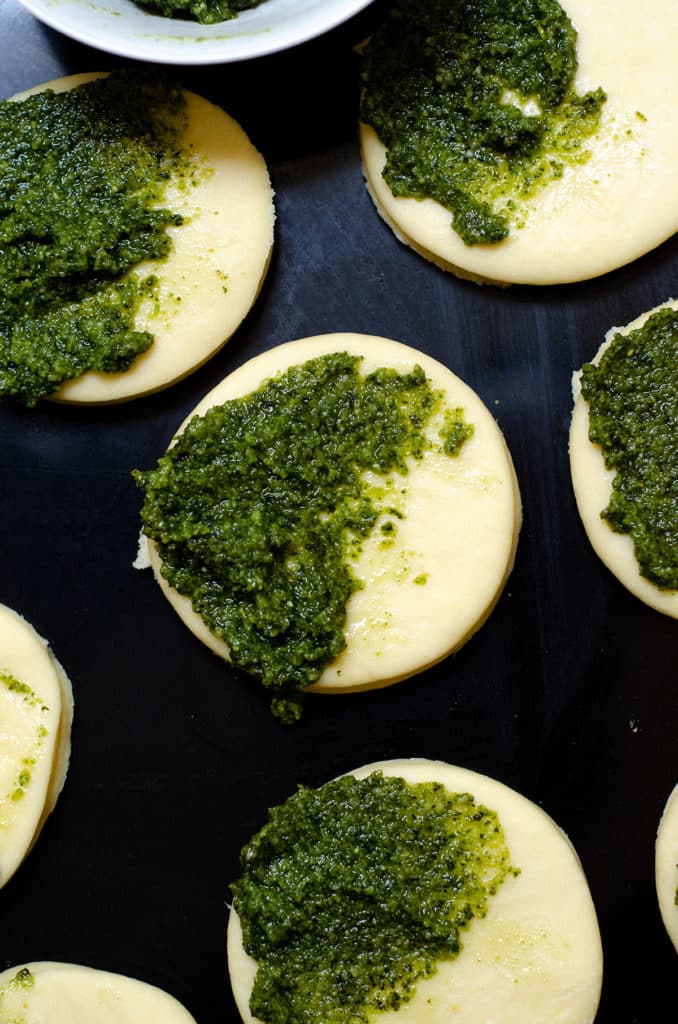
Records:
[[[212,406],[255,390],[264,380],[306,359],[332,352],[364,356],[362,372],[419,364],[452,409],[464,410],[473,436],[458,456],[427,452],[412,461],[395,544],[380,549],[377,528],[363,545],[353,571],[365,581],[347,605],[347,646],[309,690],[340,693],[388,686],[422,672],[460,647],[499,599],[513,566],[521,522],[518,485],[504,438],[478,396],[447,367],[423,352],[384,338],[333,334],[289,342],[251,359],[217,385],[179,428]],[[398,499],[399,500],[399,499]],[[150,543],[156,579],[185,625],[215,653],[228,648],[170,588]],[[426,574],[425,584],[415,583]]]

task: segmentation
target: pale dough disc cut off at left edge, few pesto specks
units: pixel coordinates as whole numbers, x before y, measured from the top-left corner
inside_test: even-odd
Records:
[[[61,792],[72,721],[71,684],[47,642],[0,605],[0,887],[31,850]],[[24,772],[29,778],[22,784]]]

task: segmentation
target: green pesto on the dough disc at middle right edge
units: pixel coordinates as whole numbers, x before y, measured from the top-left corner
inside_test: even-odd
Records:
[[[632,541],[640,572],[678,590],[678,312],[616,334],[598,366],[582,370],[589,439],[616,471],[600,515]]]

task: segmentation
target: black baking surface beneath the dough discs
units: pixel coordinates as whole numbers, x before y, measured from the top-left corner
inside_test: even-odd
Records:
[[[568,834],[602,933],[597,1021],[646,1024],[675,1006],[653,852],[678,781],[677,627],[594,555],[567,429],[573,371],[609,327],[678,292],[678,239],[597,281],[541,290],[480,289],[404,248],[361,176],[352,45],[374,17],[285,54],[176,70],[241,122],[277,190],[268,279],[222,351],[130,403],[0,408],[0,602],[50,640],[76,694],[67,785],[0,891],[0,969],[56,959],[119,971],[167,989],[199,1024],[236,1024],[228,882],[266,808],[298,783],[425,756],[498,777]],[[121,63],[0,0],[2,96]],[[285,727],[132,568],[130,470],[154,465],[202,395],[251,355],[333,331],[407,342],[479,393],[512,452],[524,524],[506,591],[461,651],[386,690],[309,696],[302,722]]]

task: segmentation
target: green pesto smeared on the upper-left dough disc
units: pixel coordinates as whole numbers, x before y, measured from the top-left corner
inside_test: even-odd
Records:
[[[0,397],[27,406],[88,370],[127,370],[187,180],[178,87],[136,72],[0,103]]]

